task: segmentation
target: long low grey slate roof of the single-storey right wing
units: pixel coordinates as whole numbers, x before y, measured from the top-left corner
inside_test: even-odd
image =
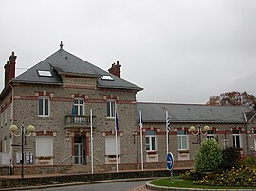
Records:
[[[199,104],[145,103],[137,102],[142,122],[165,122],[165,110],[168,110],[171,123],[245,123],[246,106],[207,106]],[[138,120],[137,120],[138,121]]]

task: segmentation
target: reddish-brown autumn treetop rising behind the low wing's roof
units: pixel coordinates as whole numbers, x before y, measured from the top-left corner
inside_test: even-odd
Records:
[[[233,91],[220,94],[220,96],[211,96],[207,105],[219,106],[247,106],[256,109],[256,98],[249,95],[246,91],[243,93]]]

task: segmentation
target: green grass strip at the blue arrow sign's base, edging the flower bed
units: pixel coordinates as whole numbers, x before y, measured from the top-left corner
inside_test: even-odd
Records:
[[[171,178],[157,179],[150,182],[153,185],[166,186],[166,187],[180,187],[180,188],[209,188],[209,189],[255,189],[255,187],[221,187],[221,186],[209,186],[209,185],[197,185],[190,180],[181,180],[174,178],[171,182]]]

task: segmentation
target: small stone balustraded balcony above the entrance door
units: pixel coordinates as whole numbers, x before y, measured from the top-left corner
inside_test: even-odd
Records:
[[[90,123],[89,115],[65,116],[65,128],[90,128],[90,127],[91,127],[91,123]]]

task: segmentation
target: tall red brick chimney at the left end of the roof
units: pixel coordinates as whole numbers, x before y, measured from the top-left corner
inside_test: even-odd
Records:
[[[9,80],[15,78],[15,65],[16,65],[17,56],[14,55],[14,52],[9,57],[9,61],[5,64],[5,86],[8,84]]]

